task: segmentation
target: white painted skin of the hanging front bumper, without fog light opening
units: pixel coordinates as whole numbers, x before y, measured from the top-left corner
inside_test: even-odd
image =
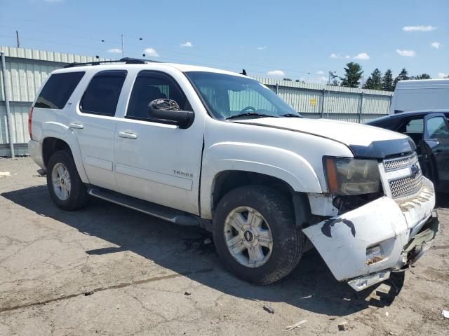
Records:
[[[429,180],[424,178],[424,189],[413,202],[413,209],[403,211],[397,202],[384,196],[331,218],[335,221],[330,228],[331,237],[324,235],[326,221],[302,231],[339,281],[394,269],[403,265],[401,253],[411,238],[410,229],[416,233],[414,229],[422,228],[434,209],[435,193]],[[355,235],[342,220],[354,225]],[[366,265],[366,248],[377,244],[382,248],[384,259]]]

